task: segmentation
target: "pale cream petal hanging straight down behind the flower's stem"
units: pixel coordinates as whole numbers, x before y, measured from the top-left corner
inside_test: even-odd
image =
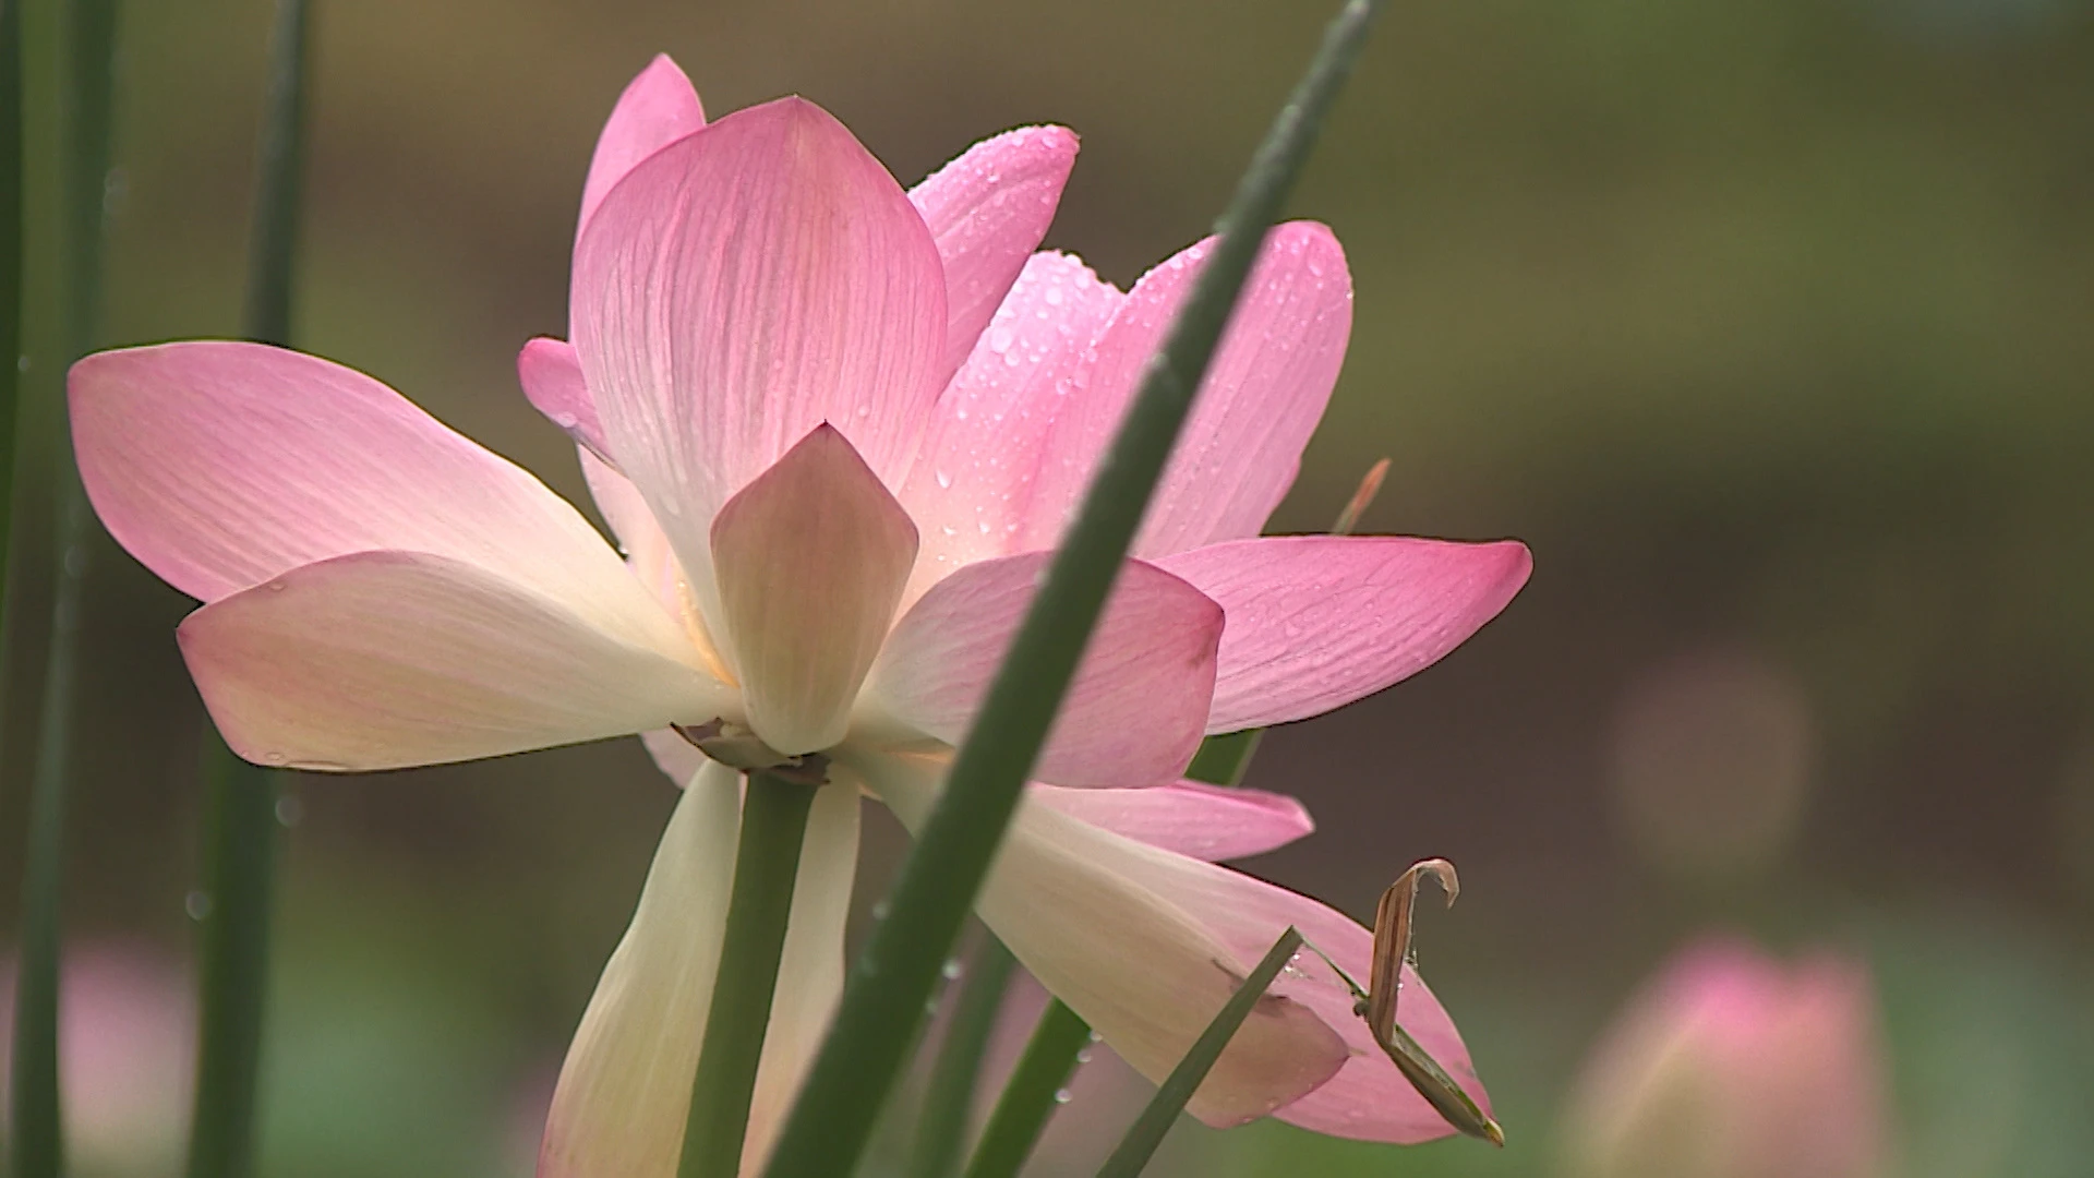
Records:
[[[647,872],[624,939],[603,966],[567,1048],[538,1151],[540,1178],[672,1178],[727,933],[739,780],[718,763],[693,778]],[[756,1172],[836,1010],[844,916],[859,859],[859,792],[815,794],[779,985],[756,1069],[741,1172]]]

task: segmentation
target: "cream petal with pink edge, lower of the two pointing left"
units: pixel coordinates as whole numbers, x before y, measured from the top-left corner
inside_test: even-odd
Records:
[[[222,597],[178,637],[226,744],[264,765],[442,765],[733,715],[630,579],[626,593],[653,641],[473,564],[366,551]]]

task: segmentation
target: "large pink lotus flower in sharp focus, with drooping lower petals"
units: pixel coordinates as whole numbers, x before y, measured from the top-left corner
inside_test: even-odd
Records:
[[[327,361],[195,342],[73,369],[94,505],[205,602],[180,643],[243,757],[385,769],[649,734],[685,786],[561,1073],[542,1174],[674,1170],[735,765],[821,752],[838,788],[806,834],[748,1157],[768,1149],[842,983],[859,790],[921,822],[1206,252],[1124,293],[1034,254],[1074,153],[1066,130],[1016,130],[905,193],[806,101],[706,124],[668,59],[643,71],[584,187],[574,342],[519,356],[624,562],[532,476]],[[1420,671],[1527,576],[1518,543],[1256,539],[1349,327],[1330,231],[1277,228],[980,903],[1150,1077],[1286,924],[1367,960],[1359,924],[1206,861],[1309,822],[1179,784],[1198,742]],[[1323,973],[1282,983],[1191,1111],[1447,1132]],[[1413,994],[1405,1023],[1466,1073]]]

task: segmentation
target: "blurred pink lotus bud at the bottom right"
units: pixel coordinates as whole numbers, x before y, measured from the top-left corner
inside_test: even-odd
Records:
[[[1887,1178],[1885,1063],[1859,962],[1681,952],[1585,1063],[1568,1178]]]

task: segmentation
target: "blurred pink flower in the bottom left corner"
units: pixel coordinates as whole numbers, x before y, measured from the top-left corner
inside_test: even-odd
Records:
[[[197,1038],[188,975],[134,941],[73,941],[59,994],[65,1155],[75,1174],[174,1174]],[[0,962],[0,1061],[13,1059],[15,960]],[[0,1109],[8,1109],[0,1069]],[[0,1134],[4,1140],[6,1134]]]

